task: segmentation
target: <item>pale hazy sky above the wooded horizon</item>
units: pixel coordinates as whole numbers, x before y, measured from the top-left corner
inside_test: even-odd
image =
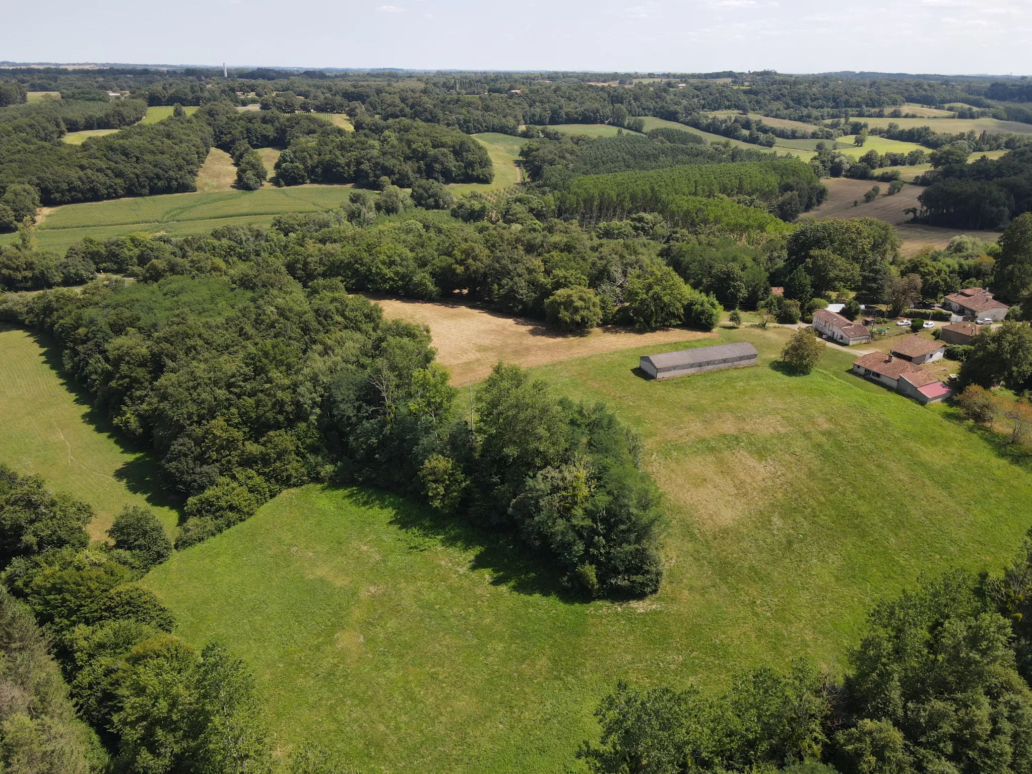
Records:
[[[0,60],[14,62],[1032,74],[1032,0],[0,0]]]

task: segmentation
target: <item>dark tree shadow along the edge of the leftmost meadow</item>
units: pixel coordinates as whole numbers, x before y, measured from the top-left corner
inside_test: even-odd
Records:
[[[13,330],[17,326],[2,326],[0,330]],[[153,452],[141,444],[134,444],[115,427],[100,411],[96,409],[93,396],[79,384],[77,384],[64,369],[61,360],[61,350],[57,343],[47,334],[39,331],[29,330],[33,341],[42,350],[43,362],[49,365],[57,375],[61,386],[72,396],[76,406],[83,407],[83,420],[89,424],[93,430],[109,439],[119,450],[129,459],[115,471],[114,478],[125,485],[133,494],[140,494],[148,505],[154,507],[171,508],[181,511],[183,497],[169,493],[161,482],[161,467],[158,460],[154,458]],[[180,514],[182,520],[182,513]]]

